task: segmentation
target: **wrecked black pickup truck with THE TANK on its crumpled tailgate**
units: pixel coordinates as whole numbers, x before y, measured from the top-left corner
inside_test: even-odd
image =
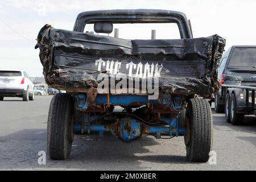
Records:
[[[159,23],[175,24],[179,38],[121,39],[113,28]],[[37,40],[47,84],[67,91],[49,107],[51,159],[68,158],[74,134],[109,132],[126,143],[145,135],[183,136],[187,159],[208,161],[212,113],[203,98],[220,88],[217,65],[225,39],[193,39],[190,21],[176,11],[103,10],[79,14],[73,31],[46,24]]]

